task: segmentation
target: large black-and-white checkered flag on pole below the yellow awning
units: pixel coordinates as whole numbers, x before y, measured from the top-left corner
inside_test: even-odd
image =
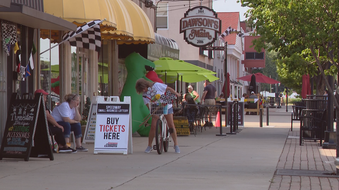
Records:
[[[62,35],[62,40],[68,40],[67,43],[69,43],[71,46],[100,52],[101,34],[99,24],[101,22],[101,20],[87,22],[86,24],[79,26],[77,31],[70,31]]]

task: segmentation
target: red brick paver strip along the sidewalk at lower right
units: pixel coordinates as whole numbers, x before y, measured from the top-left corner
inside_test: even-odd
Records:
[[[298,128],[293,132],[290,131],[288,136],[299,136]],[[318,142],[314,141],[303,142],[303,146],[299,146],[299,139],[286,139],[277,169],[336,170],[333,163],[336,158],[335,149],[322,149]],[[269,190],[338,190],[338,188],[338,178],[274,175]]]

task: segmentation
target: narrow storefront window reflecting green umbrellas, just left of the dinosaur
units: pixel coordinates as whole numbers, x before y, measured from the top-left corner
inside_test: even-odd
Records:
[[[103,40],[101,52],[98,60],[98,94],[100,96],[109,96],[109,76],[111,68],[111,41]]]

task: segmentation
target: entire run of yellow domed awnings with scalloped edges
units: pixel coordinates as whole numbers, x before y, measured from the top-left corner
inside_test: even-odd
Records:
[[[46,13],[78,26],[91,20],[103,20],[101,38],[121,40],[121,43],[153,43],[154,30],[144,11],[130,0],[44,0]],[[41,38],[49,38],[49,31],[41,31]],[[51,31],[58,42],[59,33]]]

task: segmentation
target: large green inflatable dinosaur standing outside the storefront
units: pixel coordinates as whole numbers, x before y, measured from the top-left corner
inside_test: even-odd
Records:
[[[137,94],[135,90],[135,84],[138,79],[144,78],[147,71],[152,71],[155,68],[153,62],[146,60],[139,53],[131,53],[125,58],[125,66],[127,69],[127,78],[125,85],[122,89],[120,99],[123,100],[124,96],[131,96],[132,102],[132,132],[138,132],[142,137],[148,137],[150,126],[139,125],[143,122],[143,119],[149,114],[147,106],[142,100],[142,95]],[[149,80],[151,81],[151,80]],[[149,120],[151,124],[151,120]]]

